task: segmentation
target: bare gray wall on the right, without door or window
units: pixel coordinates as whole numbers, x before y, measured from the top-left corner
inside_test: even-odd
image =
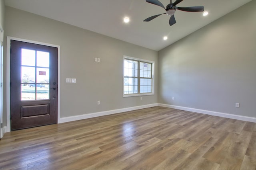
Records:
[[[159,51],[158,103],[256,117],[255,9],[253,0]]]

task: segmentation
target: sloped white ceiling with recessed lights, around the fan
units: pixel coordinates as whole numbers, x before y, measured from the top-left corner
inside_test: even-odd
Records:
[[[170,0],[159,1],[164,6],[170,3]],[[202,12],[176,10],[176,24],[172,26],[167,15],[143,22],[150,16],[165,12],[146,0],[5,0],[5,4],[159,51],[250,1],[184,0],[177,6],[204,6],[209,15],[204,17]],[[124,17],[129,17],[130,23],[124,23]],[[168,36],[166,41],[164,36]]]

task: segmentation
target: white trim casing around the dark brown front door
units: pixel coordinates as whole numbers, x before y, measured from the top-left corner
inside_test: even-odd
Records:
[[[40,45],[47,45],[51,47],[58,48],[58,123],[60,121],[60,45],[54,45],[49,43],[42,43],[38,41],[32,41],[28,39],[21,39],[16,37],[9,37],[7,36],[6,41],[6,121],[7,126],[5,129],[5,132],[11,131],[11,125],[10,125],[10,46],[11,46],[11,40],[16,41],[23,41],[27,43],[34,43],[34,44],[40,44]]]

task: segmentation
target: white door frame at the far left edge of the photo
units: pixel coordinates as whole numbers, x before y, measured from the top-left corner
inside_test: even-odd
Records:
[[[4,29],[0,25],[0,139],[4,135],[3,127],[3,48],[4,46]]]

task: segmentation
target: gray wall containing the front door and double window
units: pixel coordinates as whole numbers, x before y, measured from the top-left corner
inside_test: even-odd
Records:
[[[143,100],[123,98],[122,94],[123,55],[154,61],[157,75],[157,51],[7,6],[5,20],[5,38],[61,46],[61,117],[157,103],[157,92]],[[94,62],[94,57],[100,58],[100,63]],[[76,78],[76,84],[65,83],[66,78]],[[156,91],[157,77],[154,84]]]

